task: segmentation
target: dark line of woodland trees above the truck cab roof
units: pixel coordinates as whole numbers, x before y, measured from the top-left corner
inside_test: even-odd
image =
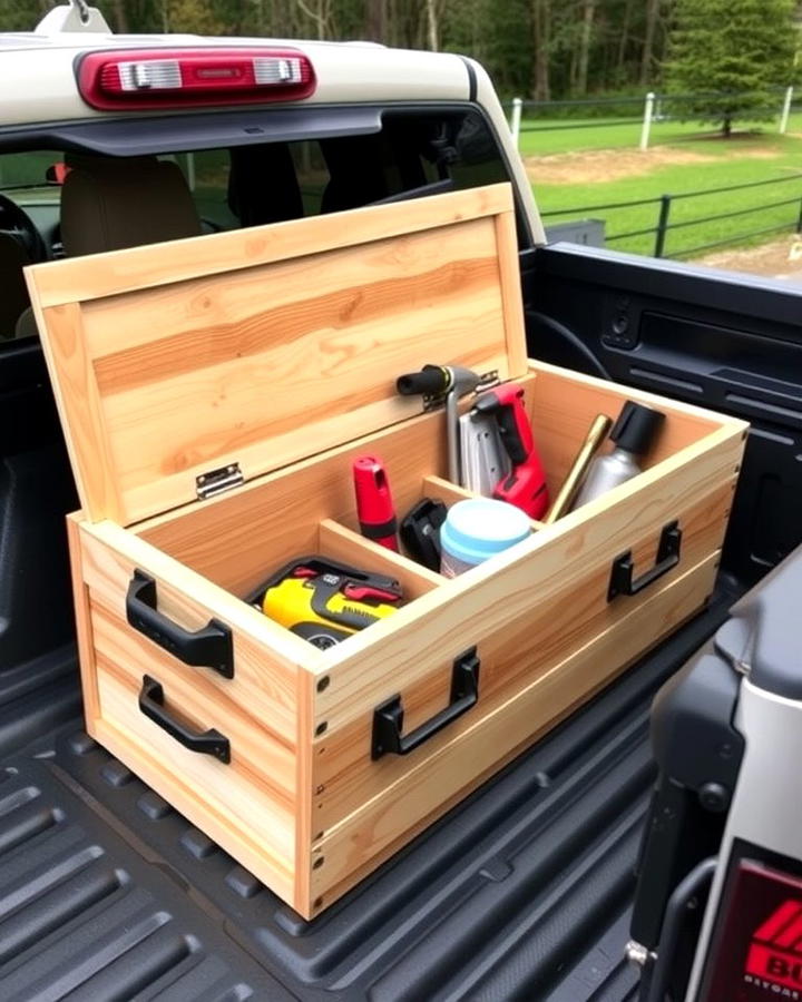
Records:
[[[389,46],[466,52],[506,96],[537,100],[632,92],[659,86],[683,31],[702,17],[712,39],[780,12],[792,33],[800,0],[89,0],[116,32],[190,32],[315,39],[366,39]],[[0,30],[30,30],[52,0],[0,0]],[[763,11],[763,14],[761,13]],[[747,18],[747,20],[749,20]],[[688,28],[689,26],[689,28]],[[759,31],[759,35],[762,32]],[[764,32],[762,32],[764,33]],[[750,39],[735,48],[754,48]],[[782,48],[782,47],[781,47]],[[788,48],[788,47],[785,47]],[[776,46],[769,55],[774,55]],[[755,59],[760,61],[761,55]],[[704,62],[704,52],[696,58]],[[754,60],[753,60],[754,61]],[[698,69],[698,67],[697,67]],[[702,67],[704,70],[704,67]],[[786,68],[782,71],[788,76]],[[739,66],[724,82],[744,89]],[[671,76],[671,75],[668,75]],[[681,75],[682,76],[682,75]],[[761,75],[757,75],[759,77]],[[765,73],[763,75],[765,76]],[[700,72],[685,72],[698,81]],[[704,78],[704,72],[702,72]]]

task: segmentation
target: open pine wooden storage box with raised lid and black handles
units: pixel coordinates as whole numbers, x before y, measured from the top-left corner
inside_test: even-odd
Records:
[[[711,593],[746,426],[527,361],[508,186],[28,278],[82,503],[87,728],[306,917]],[[429,362],[526,387],[552,495],[597,413],[633,399],[667,420],[635,480],[447,580],[354,531],[365,451],[401,513],[464,495],[443,414],[394,392]],[[319,650],[242,600],[313,552],[398,577],[408,603]],[[634,593],[610,600],[627,553]],[[393,697],[404,739],[375,757]]]

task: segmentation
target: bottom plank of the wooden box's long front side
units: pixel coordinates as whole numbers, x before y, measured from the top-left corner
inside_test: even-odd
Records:
[[[319,839],[312,854],[317,862],[312,871],[312,914],[359,883],[697,611],[713,590],[717,562],[718,553],[711,554],[602,636],[588,639]]]

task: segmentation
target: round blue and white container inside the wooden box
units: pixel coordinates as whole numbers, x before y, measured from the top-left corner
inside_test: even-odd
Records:
[[[440,529],[440,573],[456,578],[531,532],[528,517],[514,504],[489,498],[458,501]]]

